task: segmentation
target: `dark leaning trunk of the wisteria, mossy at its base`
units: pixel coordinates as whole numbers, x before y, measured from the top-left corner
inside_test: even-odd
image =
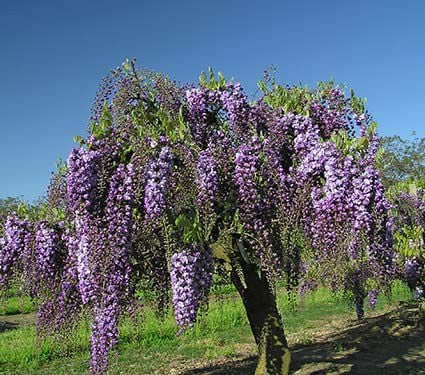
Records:
[[[245,263],[242,265],[242,273],[243,281],[235,269],[232,269],[231,277],[242,297],[258,347],[255,375],[287,375],[291,356],[276,296],[265,276],[260,276],[255,267]]]

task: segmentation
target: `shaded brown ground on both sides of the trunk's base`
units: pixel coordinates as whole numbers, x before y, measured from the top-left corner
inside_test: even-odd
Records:
[[[291,374],[425,374],[425,331],[415,327],[417,305],[362,322],[347,322],[314,344],[292,347]],[[256,357],[193,369],[184,375],[254,374]]]

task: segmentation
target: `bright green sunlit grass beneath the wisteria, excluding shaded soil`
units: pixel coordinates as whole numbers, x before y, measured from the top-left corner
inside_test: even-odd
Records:
[[[215,290],[208,313],[194,329],[180,337],[172,313],[159,321],[146,309],[143,324],[124,319],[120,326],[119,354],[111,358],[111,374],[172,373],[177,363],[208,361],[238,355],[241,347],[255,354],[255,347],[243,305],[233,290]],[[407,287],[396,283],[390,297],[381,296],[377,309],[408,300]],[[305,296],[294,310],[284,293],[278,297],[285,330],[308,343],[308,331],[334,317],[354,318],[353,307],[329,290],[320,289]],[[33,324],[34,306],[24,297],[9,297],[6,314],[23,313],[28,317],[19,328],[0,333],[0,374],[87,374],[89,358],[89,323],[81,322],[63,340],[38,341]],[[1,320],[1,317],[0,317]],[[7,319],[6,319],[7,320]],[[162,367],[161,367],[162,366]],[[161,372],[163,368],[163,372]],[[179,372],[176,372],[179,373]]]

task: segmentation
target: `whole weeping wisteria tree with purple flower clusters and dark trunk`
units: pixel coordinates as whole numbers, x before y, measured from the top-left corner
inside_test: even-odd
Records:
[[[180,87],[126,62],[102,82],[88,136],[52,180],[53,214],[6,225],[1,285],[14,267],[36,275],[41,334],[89,311],[92,374],[107,371],[142,281],[160,313],[171,297],[183,334],[213,272],[227,272],[258,345],[256,374],[289,371],[277,281],[348,289],[360,317],[366,293],[388,285],[389,204],[363,102],[333,83],[260,88],[250,102],[220,74]]]

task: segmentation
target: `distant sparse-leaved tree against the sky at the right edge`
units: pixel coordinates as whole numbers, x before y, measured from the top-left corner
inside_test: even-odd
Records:
[[[386,187],[402,181],[425,180],[425,138],[381,138],[379,168]]]

